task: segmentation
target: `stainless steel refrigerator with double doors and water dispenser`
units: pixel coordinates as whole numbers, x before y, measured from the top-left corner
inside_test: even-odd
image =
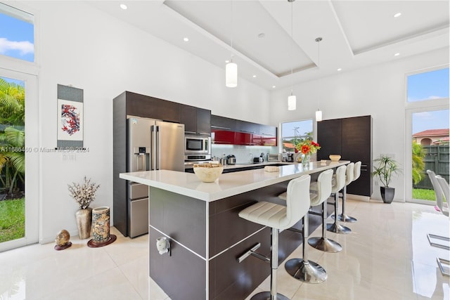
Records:
[[[127,171],[184,172],[184,124],[127,117]],[[148,186],[127,182],[128,235],[148,233]]]

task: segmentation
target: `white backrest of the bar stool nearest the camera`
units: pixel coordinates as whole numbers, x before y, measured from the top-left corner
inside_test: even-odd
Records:
[[[311,206],[309,183],[311,183],[311,176],[307,174],[289,181],[286,193],[286,219],[288,224],[284,226],[285,228],[292,227],[308,213]]]

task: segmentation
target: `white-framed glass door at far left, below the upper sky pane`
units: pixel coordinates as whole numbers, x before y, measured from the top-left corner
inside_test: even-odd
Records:
[[[0,68],[0,252],[39,240],[37,78]],[[31,125],[30,125],[31,124]]]

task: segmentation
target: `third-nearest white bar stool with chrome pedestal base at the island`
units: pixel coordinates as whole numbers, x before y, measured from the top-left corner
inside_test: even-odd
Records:
[[[340,168],[342,171],[345,171],[345,169],[346,169],[345,166],[341,166]],[[327,202],[326,202],[326,200],[331,195],[331,190],[333,188],[332,179],[333,179],[333,170],[332,169],[323,171],[319,175],[319,178],[317,178],[317,182],[311,183],[311,185],[309,187],[310,190],[317,191],[317,194],[314,194],[314,196],[311,197],[311,206],[316,206],[316,205],[322,204],[322,236],[309,238],[308,244],[311,247],[314,247],[323,252],[335,253],[335,252],[340,252],[342,250],[342,246],[338,242],[335,242],[334,240],[330,240],[326,237],[326,218],[327,218],[327,214],[326,214]]]

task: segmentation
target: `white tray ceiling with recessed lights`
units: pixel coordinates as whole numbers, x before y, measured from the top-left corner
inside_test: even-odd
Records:
[[[449,46],[447,0],[86,2],[264,89]]]

